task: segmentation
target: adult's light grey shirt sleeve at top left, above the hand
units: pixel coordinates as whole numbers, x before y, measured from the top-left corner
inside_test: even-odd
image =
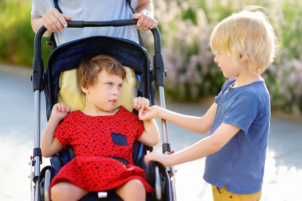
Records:
[[[54,8],[52,0],[32,0],[31,17],[42,17],[51,8]]]

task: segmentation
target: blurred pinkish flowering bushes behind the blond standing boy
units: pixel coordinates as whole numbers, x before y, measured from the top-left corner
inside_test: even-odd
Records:
[[[298,0],[154,1],[161,25],[166,91],[174,100],[216,95],[225,79],[213,62],[209,37],[217,22],[246,6],[260,6],[278,38],[274,64],[263,74],[272,109],[302,111],[302,2]],[[152,42],[152,41],[150,41]],[[148,50],[152,49],[148,43]]]

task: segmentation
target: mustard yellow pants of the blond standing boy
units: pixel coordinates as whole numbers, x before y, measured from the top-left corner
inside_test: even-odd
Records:
[[[226,187],[218,189],[212,185],[212,192],[214,201],[259,201],[261,197],[261,190],[253,194],[235,194],[226,191]]]

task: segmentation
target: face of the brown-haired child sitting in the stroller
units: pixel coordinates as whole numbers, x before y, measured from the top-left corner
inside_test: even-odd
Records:
[[[86,102],[90,102],[103,111],[112,111],[120,95],[123,79],[102,70],[95,83],[88,88]]]

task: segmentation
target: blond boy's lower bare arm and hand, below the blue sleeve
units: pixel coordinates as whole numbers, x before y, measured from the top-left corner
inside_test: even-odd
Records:
[[[156,160],[161,162],[165,167],[169,167],[203,158],[219,151],[239,130],[237,126],[222,123],[211,136],[200,140],[192,146],[169,156],[152,152],[145,156],[145,162],[148,164],[150,161]]]

